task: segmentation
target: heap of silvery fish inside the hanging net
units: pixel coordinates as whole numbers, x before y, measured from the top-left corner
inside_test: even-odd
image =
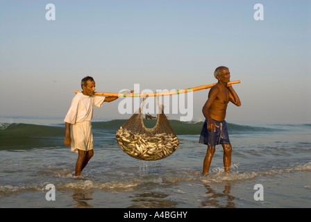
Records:
[[[116,133],[121,149],[139,160],[160,160],[168,157],[179,145],[178,137],[169,133],[137,133],[122,127]]]

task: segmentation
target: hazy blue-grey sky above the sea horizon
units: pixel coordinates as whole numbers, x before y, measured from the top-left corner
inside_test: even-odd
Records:
[[[155,92],[216,83],[225,65],[242,101],[228,105],[227,121],[311,123],[310,43],[305,0],[1,0],[0,115],[65,117],[87,75],[99,92],[135,83]],[[203,119],[208,90],[193,95],[193,120]],[[128,118],[121,100],[94,115]]]

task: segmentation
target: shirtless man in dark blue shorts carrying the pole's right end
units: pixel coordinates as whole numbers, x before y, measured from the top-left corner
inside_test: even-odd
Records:
[[[203,162],[203,175],[208,173],[210,162],[215,153],[215,146],[221,144],[224,148],[224,171],[230,171],[231,151],[228,130],[226,126],[226,109],[229,101],[237,106],[241,105],[230,82],[230,72],[227,67],[217,67],[214,72],[218,83],[208,93],[208,100],[203,106],[202,112],[205,122],[201,131],[199,142],[208,145],[208,151]]]

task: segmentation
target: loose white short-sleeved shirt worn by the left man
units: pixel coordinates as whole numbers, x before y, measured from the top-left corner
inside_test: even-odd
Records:
[[[72,124],[91,121],[94,105],[101,107],[105,98],[105,96],[85,96],[82,92],[78,92],[72,99],[72,105],[70,105],[64,121]]]

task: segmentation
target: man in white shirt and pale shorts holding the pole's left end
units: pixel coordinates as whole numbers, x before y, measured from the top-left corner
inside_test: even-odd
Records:
[[[90,76],[86,76],[81,80],[81,87],[83,91],[74,96],[72,105],[64,119],[66,126],[64,144],[66,146],[72,145],[72,151],[78,153],[75,176],[81,174],[87,162],[94,155],[90,122],[94,105],[101,107],[103,102],[109,103],[118,99],[117,96],[94,96],[95,81]]]

